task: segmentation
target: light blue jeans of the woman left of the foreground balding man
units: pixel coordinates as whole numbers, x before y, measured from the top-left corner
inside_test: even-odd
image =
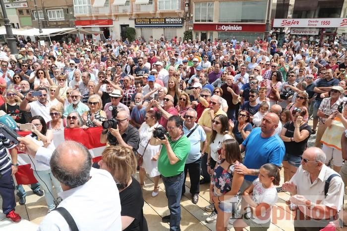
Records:
[[[54,203],[55,198],[53,197],[54,194],[52,183],[55,186],[57,193],[62,192],[60,183],[53,176],[51,169],[44,171],[34,171],[34,176],[36,180],[40,183],[42,190],[45,192],[45,199],[47,202],[48,209],[54,209],[56,207],[56,204]]]

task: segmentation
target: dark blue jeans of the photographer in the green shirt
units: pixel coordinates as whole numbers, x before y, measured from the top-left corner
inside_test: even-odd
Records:
[[[181,222],[181,206],[180,199],[182,194],[182,185],[184,181],[184,173],[174,177],[166,178],[162,176],[165,185],[166,197],[168,198],[168,206],[170,210],[170,231],[180,231],[179,224]]]

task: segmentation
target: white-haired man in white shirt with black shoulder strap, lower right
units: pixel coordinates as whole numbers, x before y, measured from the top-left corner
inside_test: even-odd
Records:
[[[295,231],[319,231],[338,219],[345,185],[341,176],[324,164],[325,160],[322,149],[307,148],[301,166],[282,186],[290,192],[290,203],[296,205]]]

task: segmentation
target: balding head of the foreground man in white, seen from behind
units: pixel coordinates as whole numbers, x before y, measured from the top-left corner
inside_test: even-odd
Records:
[[[92,156],[81,143],[65,141],[53,152],[50,165],[53,175],[62,185],[74,188],[90,179]]]

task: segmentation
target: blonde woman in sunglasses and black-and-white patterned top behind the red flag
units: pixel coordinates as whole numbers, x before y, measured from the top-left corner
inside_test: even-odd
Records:
[[[89,110],[82,115],[85,124],[82,126],[83,129],[101,127],[102,122],[107,120],[106,112],[101,110],[102,106],[101,97],[98,94],[93,94],[89,97]]]

